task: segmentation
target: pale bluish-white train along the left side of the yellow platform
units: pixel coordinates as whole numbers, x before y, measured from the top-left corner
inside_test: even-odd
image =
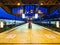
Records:
[[[18,20],[8,20],[8,19],[0,19],[0,28],[4,28],[5,26],[13,26],[25,23],[24,21]]]

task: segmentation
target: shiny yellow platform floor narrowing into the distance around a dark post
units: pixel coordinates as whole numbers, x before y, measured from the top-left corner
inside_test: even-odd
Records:
[[[0,45],[60,45],[60,33],[32,23],[0,33]]]

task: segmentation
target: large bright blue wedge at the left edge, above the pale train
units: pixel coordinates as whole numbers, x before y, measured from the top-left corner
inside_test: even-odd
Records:
[[[17,16],[7,13],[3,8],[0,7],[0,19],[10,19],[10,20],[22,20]]]

